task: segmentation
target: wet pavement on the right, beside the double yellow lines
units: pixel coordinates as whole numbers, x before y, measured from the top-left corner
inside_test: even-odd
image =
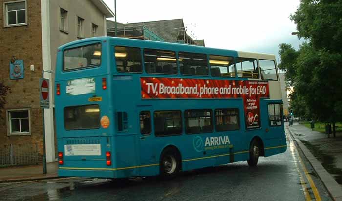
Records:
[[[286,125],[296,145],[308,159],[334,201],[342,201],[342,133],[336,137],[304,125]]]

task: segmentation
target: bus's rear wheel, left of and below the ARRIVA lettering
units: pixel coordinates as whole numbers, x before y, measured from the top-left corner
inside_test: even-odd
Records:
[[[160,157],[160,175],[170,177],[179,172],[179,158],[175,151],[166,149]]]

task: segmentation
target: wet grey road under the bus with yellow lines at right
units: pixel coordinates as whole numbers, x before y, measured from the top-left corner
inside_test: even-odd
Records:
[[[299,155],[298,155],[299,154]],[[27,201],[331,201],[288,137],[285,153],[183,172],[172,180],[68,178],[0,184],[0,200]]]

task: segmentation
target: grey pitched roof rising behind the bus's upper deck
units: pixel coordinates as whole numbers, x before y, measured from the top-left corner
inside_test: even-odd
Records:
[[[124,26],[146,26],[150,31],[157,34],[161,38],[163,38],[167,42],[173,42],[177,40],[178,32],[181,31],[181,28],[184,28],[183,19],[174,19],[174,20],[160,20],[160,21],[148,21],[148,22],[139,22],[139,23],[127,23],[122,24],[118,23],[118,28]],[[107,29],[114,28],[115,22],[107,20]]]

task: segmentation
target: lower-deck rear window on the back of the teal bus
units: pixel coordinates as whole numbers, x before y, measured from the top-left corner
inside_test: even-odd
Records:
[[[99,105],[80,105],[64,108],[66,130],[100,128]]]

